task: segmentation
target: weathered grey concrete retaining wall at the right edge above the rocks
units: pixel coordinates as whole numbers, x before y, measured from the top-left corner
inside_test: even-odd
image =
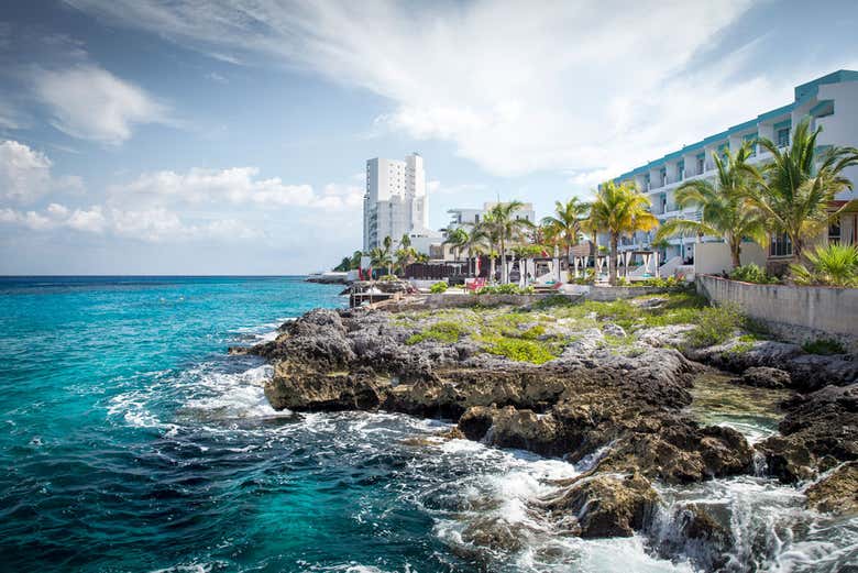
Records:
[[[735,302],[788,340],[837,338],[858,346],[858,288],[755,285],[697,275],[697,293],[722,305]]]

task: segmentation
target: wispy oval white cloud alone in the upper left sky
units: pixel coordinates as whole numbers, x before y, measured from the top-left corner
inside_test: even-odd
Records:
[[[33,91],[52,124],[74,137],[118,145],[142,123],[167,123],[167,109],[143,89],[94,64],[36,68]]]

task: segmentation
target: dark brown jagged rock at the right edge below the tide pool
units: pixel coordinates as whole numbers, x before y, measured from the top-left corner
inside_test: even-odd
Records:
[[[758,444],[772,475],[793,483],[858,460],[858,384],[799,395],[784,408],[782,436]]]

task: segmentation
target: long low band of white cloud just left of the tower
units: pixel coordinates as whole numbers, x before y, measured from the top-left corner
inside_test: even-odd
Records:
[[[143,174],[125,185],[113,186],[113,201],[142,200],[150,205],[232,203],[239,206],[308,207],[341,210],[358,208],[360,187],[328,185],[317,194],[310,185],[288,185],[279,177],[258,178],[256,167],[229,169],[191,168]]]

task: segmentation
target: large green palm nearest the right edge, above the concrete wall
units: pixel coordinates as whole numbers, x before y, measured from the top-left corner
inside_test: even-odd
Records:
[[[789,236],[795,261],[801,260],[807,241],[817,236],[829,219],[855,203],[847,202],[834,213],[828,211],[838,192],[853,188],[843,172],[858,165],[858,148],[833,146],[820,154],[820,132],[821,126],[812,132],[805,118],[795,128],[789,150],[781,151],[771,140],[760,139],[772,159],[762,167],[759,185],[749,192],[750,201],[766,214],[773,230]]]

